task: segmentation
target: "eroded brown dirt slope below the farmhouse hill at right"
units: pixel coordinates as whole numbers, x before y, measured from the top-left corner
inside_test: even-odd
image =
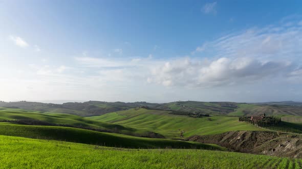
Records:
[[[230,131],[191,136],[187,140],[218,144],[230,150],[279,157],[302,158],[302,136],[271,131]]]

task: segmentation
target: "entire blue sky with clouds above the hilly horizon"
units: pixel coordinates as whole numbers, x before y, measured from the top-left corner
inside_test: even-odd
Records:
[[[302,101],[301,1],[0,0],[0,100]]]

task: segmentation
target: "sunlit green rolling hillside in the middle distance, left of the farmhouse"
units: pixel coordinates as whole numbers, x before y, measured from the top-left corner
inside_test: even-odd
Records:
[[[191,118],[188,116],[171,115],[169,111],[130,109],[111,112],[102,116],[87,119],[100,122],[121,124],[123,126],[150,130],[167,138],[180,138],[191,135],[218,134],[234,130],[264,130],[233,117]]]

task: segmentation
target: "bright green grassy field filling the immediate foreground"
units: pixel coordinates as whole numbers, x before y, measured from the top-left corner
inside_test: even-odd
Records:
[[[0,168],[301,168],[302,160],[185,149],[120,149],[0,136]]]

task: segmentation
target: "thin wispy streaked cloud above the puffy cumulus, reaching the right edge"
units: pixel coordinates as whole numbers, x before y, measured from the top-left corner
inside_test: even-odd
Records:
[[[191,53],[203,52],[216,58],[256,57],[297,59],[302,53],[302,25],[297,22],[251,28],[206,42]]]

